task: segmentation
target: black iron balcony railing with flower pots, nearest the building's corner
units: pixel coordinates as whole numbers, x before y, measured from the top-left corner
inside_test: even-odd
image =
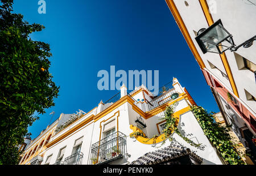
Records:
[[[126,135],[117,131],[92,145],[90,164],[107,164],[123,158],[125,153]]]

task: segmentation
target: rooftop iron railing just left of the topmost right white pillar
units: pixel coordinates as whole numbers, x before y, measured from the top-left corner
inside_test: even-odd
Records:
[[[168,89],[168,91],[164,91],[160,96],[154,98],[153,100],[147,103],[147,108],[148,108],[147,110],[150,111],[168,101],[171,101],[172,95],[174,93],[177,93],[174,88]]]

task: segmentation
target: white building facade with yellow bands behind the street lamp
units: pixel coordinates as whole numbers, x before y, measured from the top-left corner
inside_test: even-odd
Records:
[[[256,163],[256,45],[227,50],[223,54],[203,53],[195,37],[202,28],[221,20],[240,45],[256,35],[256,1],[166,0],[183,33],[227,125]]]

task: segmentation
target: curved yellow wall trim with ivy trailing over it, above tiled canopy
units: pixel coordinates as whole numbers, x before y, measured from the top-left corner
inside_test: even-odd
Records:
[[[184,113],[186,113],[187,111],[190,111],[190,110],[191,110],[191,108],[189,106],[187,106],[186,108],[183,108],[179,111],[176,111],[174,113],[174,117],[176,118],[176,124],[178,124],[179,121],[180,121],[180,115],[184,114]],[[130,129],[133,130],[133,132],[136,132],[136,131],[141,132],[141,130],[139,130],[139,128],[137,128],[133,125],[130,125]],[[133,134],[133,132],[131,134]],[[157,143],[162,142],[164,139],[166,139],[166,137],[165,137],[164,134],[162,134],[162,135],[159,135],[155,139],[148,139],[148,138],[144,138],[142,136],[136,136],[135,139],[137,139],[142,144],[157,144]]]

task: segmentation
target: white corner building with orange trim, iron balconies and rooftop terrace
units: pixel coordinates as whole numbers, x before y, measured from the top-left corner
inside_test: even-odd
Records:
[[[171,88],[154,96],[143,85],[131,93],[123,85],[117,95],[88,113],[61,114],[32,140],[19,164],[142,164],[138,158],[159,148],[176,152],[170,155],[174,159],[189,154],[191,164],[225,164],[193,115],[189,105],[195,102],[187,90],[176,78],[167,86]],[[174,140],[162,144],[165,122],[161,118],[174,102],[179,130],[204,149],[191,146],[175,133]],[[130,137],[138,131],[144,136]],[[154,135],[159,136],[151,139]]]

